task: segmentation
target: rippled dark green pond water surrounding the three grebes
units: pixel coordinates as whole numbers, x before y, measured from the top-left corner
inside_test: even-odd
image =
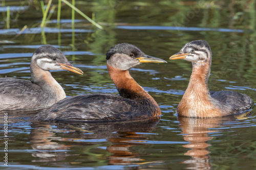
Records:
[[[53,2],[57,5],[57,2]],[[4,18],[10,6],[10,29]],[[41,34],[40,4],[5,1],[0,8],[0,77],[30,80],[30,58],[46,41],[60,48],[83,76],[52,71],[68,96],[115,93],[104,54],[120,42],[168,63],[144,63],[130,72],[158,102],[161,119],[115,124],[32,122],[36,112],[8,112],[5,169],[254,169],[255,109],[241,116],[177,118],[191,63],[169,61],[192,40],[204,39],[213,58],[210,90],[234,90],[255,101],[255,1],[76,1],[99,30],[62,4]],[[52,6],[53,7],[53,6]],[[27,29],[22,31],[24,26]],[[26,27],[25,27],[26,28]],[[1,112],[1,129],[4,112]],[[4,133],[1,131],[4,141]],[[0,143],[3,159],[5,145]]]

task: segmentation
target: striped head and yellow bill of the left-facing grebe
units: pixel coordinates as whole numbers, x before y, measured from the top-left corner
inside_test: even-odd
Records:
[[[193,63],[203,63],[211,60],[210,46],[204,40],[191,41],[186,43],[179,53],[171,56],[169,59],[184,59]]]

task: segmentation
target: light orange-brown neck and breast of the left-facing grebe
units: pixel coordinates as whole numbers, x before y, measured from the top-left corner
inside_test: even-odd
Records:
[[[188,117],[218,117],[221,111],[210,96],[207,81],[210,74],[209,63],[193,63],[193,71],[188,87],[178,105],[178,114]]]

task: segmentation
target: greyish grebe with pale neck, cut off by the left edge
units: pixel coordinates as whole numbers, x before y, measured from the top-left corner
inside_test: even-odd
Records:
[[[40,109],[66,98],[66,93],[52,77],[50,69],[66,69],[82,75],[57,48],[40,46],[31,58],[32,81],[0,78],[0,110]]]

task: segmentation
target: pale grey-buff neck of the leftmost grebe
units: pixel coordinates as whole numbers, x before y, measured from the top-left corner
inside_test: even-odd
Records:
[[[30,72],[32,82],[38,85],[45,94],[48,94],[48,96],[56,101],[66,98],[65,91],[52,77],[49,70],[42,70],[35,61],[31,61]]]

